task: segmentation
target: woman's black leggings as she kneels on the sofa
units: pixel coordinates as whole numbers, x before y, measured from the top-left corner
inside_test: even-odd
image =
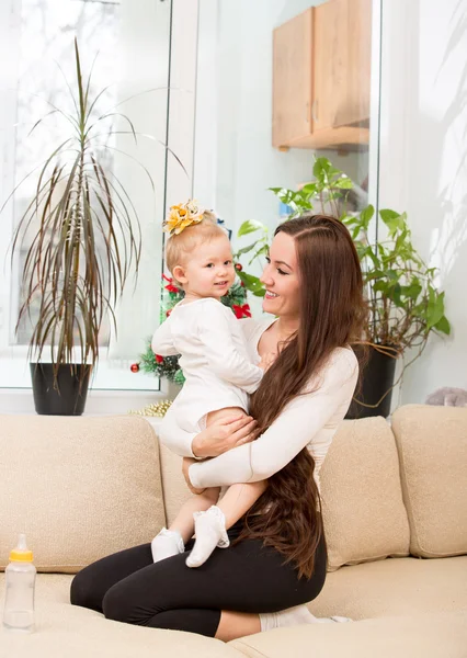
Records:
[[[241,521],[229,530],[238,536]],[[193,542],[186,545],[187,551]],[[216,548],[196,569],[187,552],[152,563],[150,544],[121,551],[86,567],[71,583],[71,603],[103,612],[110,620],[214,637],[221,610],[277,612],[307,603],[326,579],[326,543],[316,554],[312,577],[298,579],[284,556],[259,540]]]

